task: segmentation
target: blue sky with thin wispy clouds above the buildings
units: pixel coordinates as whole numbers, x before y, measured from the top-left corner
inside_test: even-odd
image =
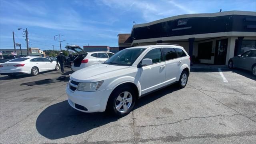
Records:
[[[130,33],[136,24],[179,14],[230,10],[256,12],[256,0],[0,0],[0,49],[13,48],[15,40],[26,48],[22,31],[28,28],[29,47],[60,49],[69,44],[118,46],[119,33]],[[62,48],[63,48],[62,47]]]

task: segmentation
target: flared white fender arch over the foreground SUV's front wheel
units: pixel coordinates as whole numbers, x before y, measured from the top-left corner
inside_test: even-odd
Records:
[[[112,82],[110,82],[107,86],[106,89],[112,89],[114,90],[117,86],[119,86],[120,84],[124,84],[124,83],[133,83],[137,86],[138,88],[138,93],[139,96],[141,95],[141,86],[140,86],[140,82],[138,81],[138,79],[135,79],[132,76],[122,76],[120,78],[116,78],[115,80],[113,80]]]

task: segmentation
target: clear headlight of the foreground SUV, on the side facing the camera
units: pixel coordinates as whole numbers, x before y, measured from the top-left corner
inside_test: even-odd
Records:
[[[93,92],[93,91],[97,91],[100,86],[103,84],[104,81],[100,81],[100,82],[92,82],[92,83],[83,83],[80,82],[78,84],[77,90],[80,91],[89,91],[89,92]]]

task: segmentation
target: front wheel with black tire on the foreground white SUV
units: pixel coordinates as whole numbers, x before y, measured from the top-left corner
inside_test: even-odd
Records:
[[[110,95],[108,101],[108,110],[118,117],[129,114],[134,108],[136,94],[134,90],[128,86],[115,89]]]

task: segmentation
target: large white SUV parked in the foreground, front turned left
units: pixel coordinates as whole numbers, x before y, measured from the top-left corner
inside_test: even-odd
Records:
[[[136,46],[117,52],[106,62],[78,70],[66,86],[68,103],[82,112],[128,114],[136,100],[154,90],[178,83],[184,88],[190,57],[171,44]]]

